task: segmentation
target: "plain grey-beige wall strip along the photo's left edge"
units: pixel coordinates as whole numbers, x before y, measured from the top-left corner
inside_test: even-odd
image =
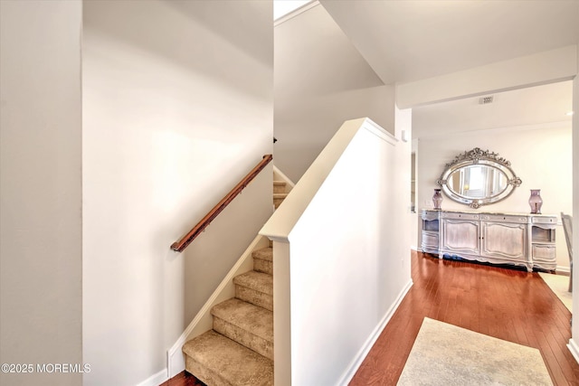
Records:
[[[0,2],[0,84],[0,383],[78,385],[81,2]]]

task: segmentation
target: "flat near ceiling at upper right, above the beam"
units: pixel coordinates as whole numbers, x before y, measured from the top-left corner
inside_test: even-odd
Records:
[[[384,84],[579,42],[577,0],[320,0]]]

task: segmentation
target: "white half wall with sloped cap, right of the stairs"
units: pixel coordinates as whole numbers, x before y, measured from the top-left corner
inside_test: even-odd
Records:
[[[289,268],[274,272],[275,339],[283,329],[290,342],[276,346],[276,384],[346,384],[410,286],[410,155],[371,121],[347,121],[261,230]]]

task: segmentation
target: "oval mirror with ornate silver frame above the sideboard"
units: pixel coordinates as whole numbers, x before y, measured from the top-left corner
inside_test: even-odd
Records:
[[[475,209],[506,199],[521,183],[510,162],[479,147],[444,165],[441,178],[436,181],[451,200]]]

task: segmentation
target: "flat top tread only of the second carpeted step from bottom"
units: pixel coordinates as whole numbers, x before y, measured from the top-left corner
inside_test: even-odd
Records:
[[[273,313],[271,311],[232,298],[214,306],[211,315],[273,342]]]

